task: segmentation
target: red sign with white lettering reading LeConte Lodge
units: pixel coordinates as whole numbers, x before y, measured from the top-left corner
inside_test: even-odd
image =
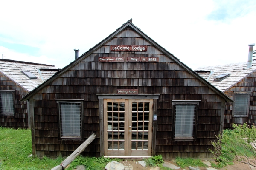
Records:
[[[110,51],[148,51],[147,45],[110,45]]]

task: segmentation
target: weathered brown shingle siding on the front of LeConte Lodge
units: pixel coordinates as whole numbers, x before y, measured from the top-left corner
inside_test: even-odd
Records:
[[[129,38],[126,38],[126,37]],[[110,51],[110,45],[148,45],[147,52]],[[98,62],[98,57],[159,57],[160,62]],[[83,155],[100,156],[99,99],[96,94],[116,94],[116,89],[139,89],[139,94],[160,94],[157,102],[156,155],[209,158],[211,141],[219,134],[222,98],[207,85],[167,57],[135,31],[126,29],[61,74],[33,96],[35,147],[38,156],[67,156],[83,141],[58,137],[55,99],[84,99],[84,140],[96,139]],[[172,139],[172,100],[199,102],[196,141]]]

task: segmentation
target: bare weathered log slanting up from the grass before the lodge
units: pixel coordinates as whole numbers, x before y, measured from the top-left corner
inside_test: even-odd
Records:
[[[95,139],[96,135],[93,133],[84,143],[82,143],[70,156],[68,156],[61,164],[52,168],[52,170],[64,170],[81,152]],[[61,169],[60,169],[61,168]]]

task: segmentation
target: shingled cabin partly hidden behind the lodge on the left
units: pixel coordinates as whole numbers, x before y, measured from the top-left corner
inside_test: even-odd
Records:
[[[0,59],[0,126],[28,128],[26,94],[59,69],[54,65]]]

